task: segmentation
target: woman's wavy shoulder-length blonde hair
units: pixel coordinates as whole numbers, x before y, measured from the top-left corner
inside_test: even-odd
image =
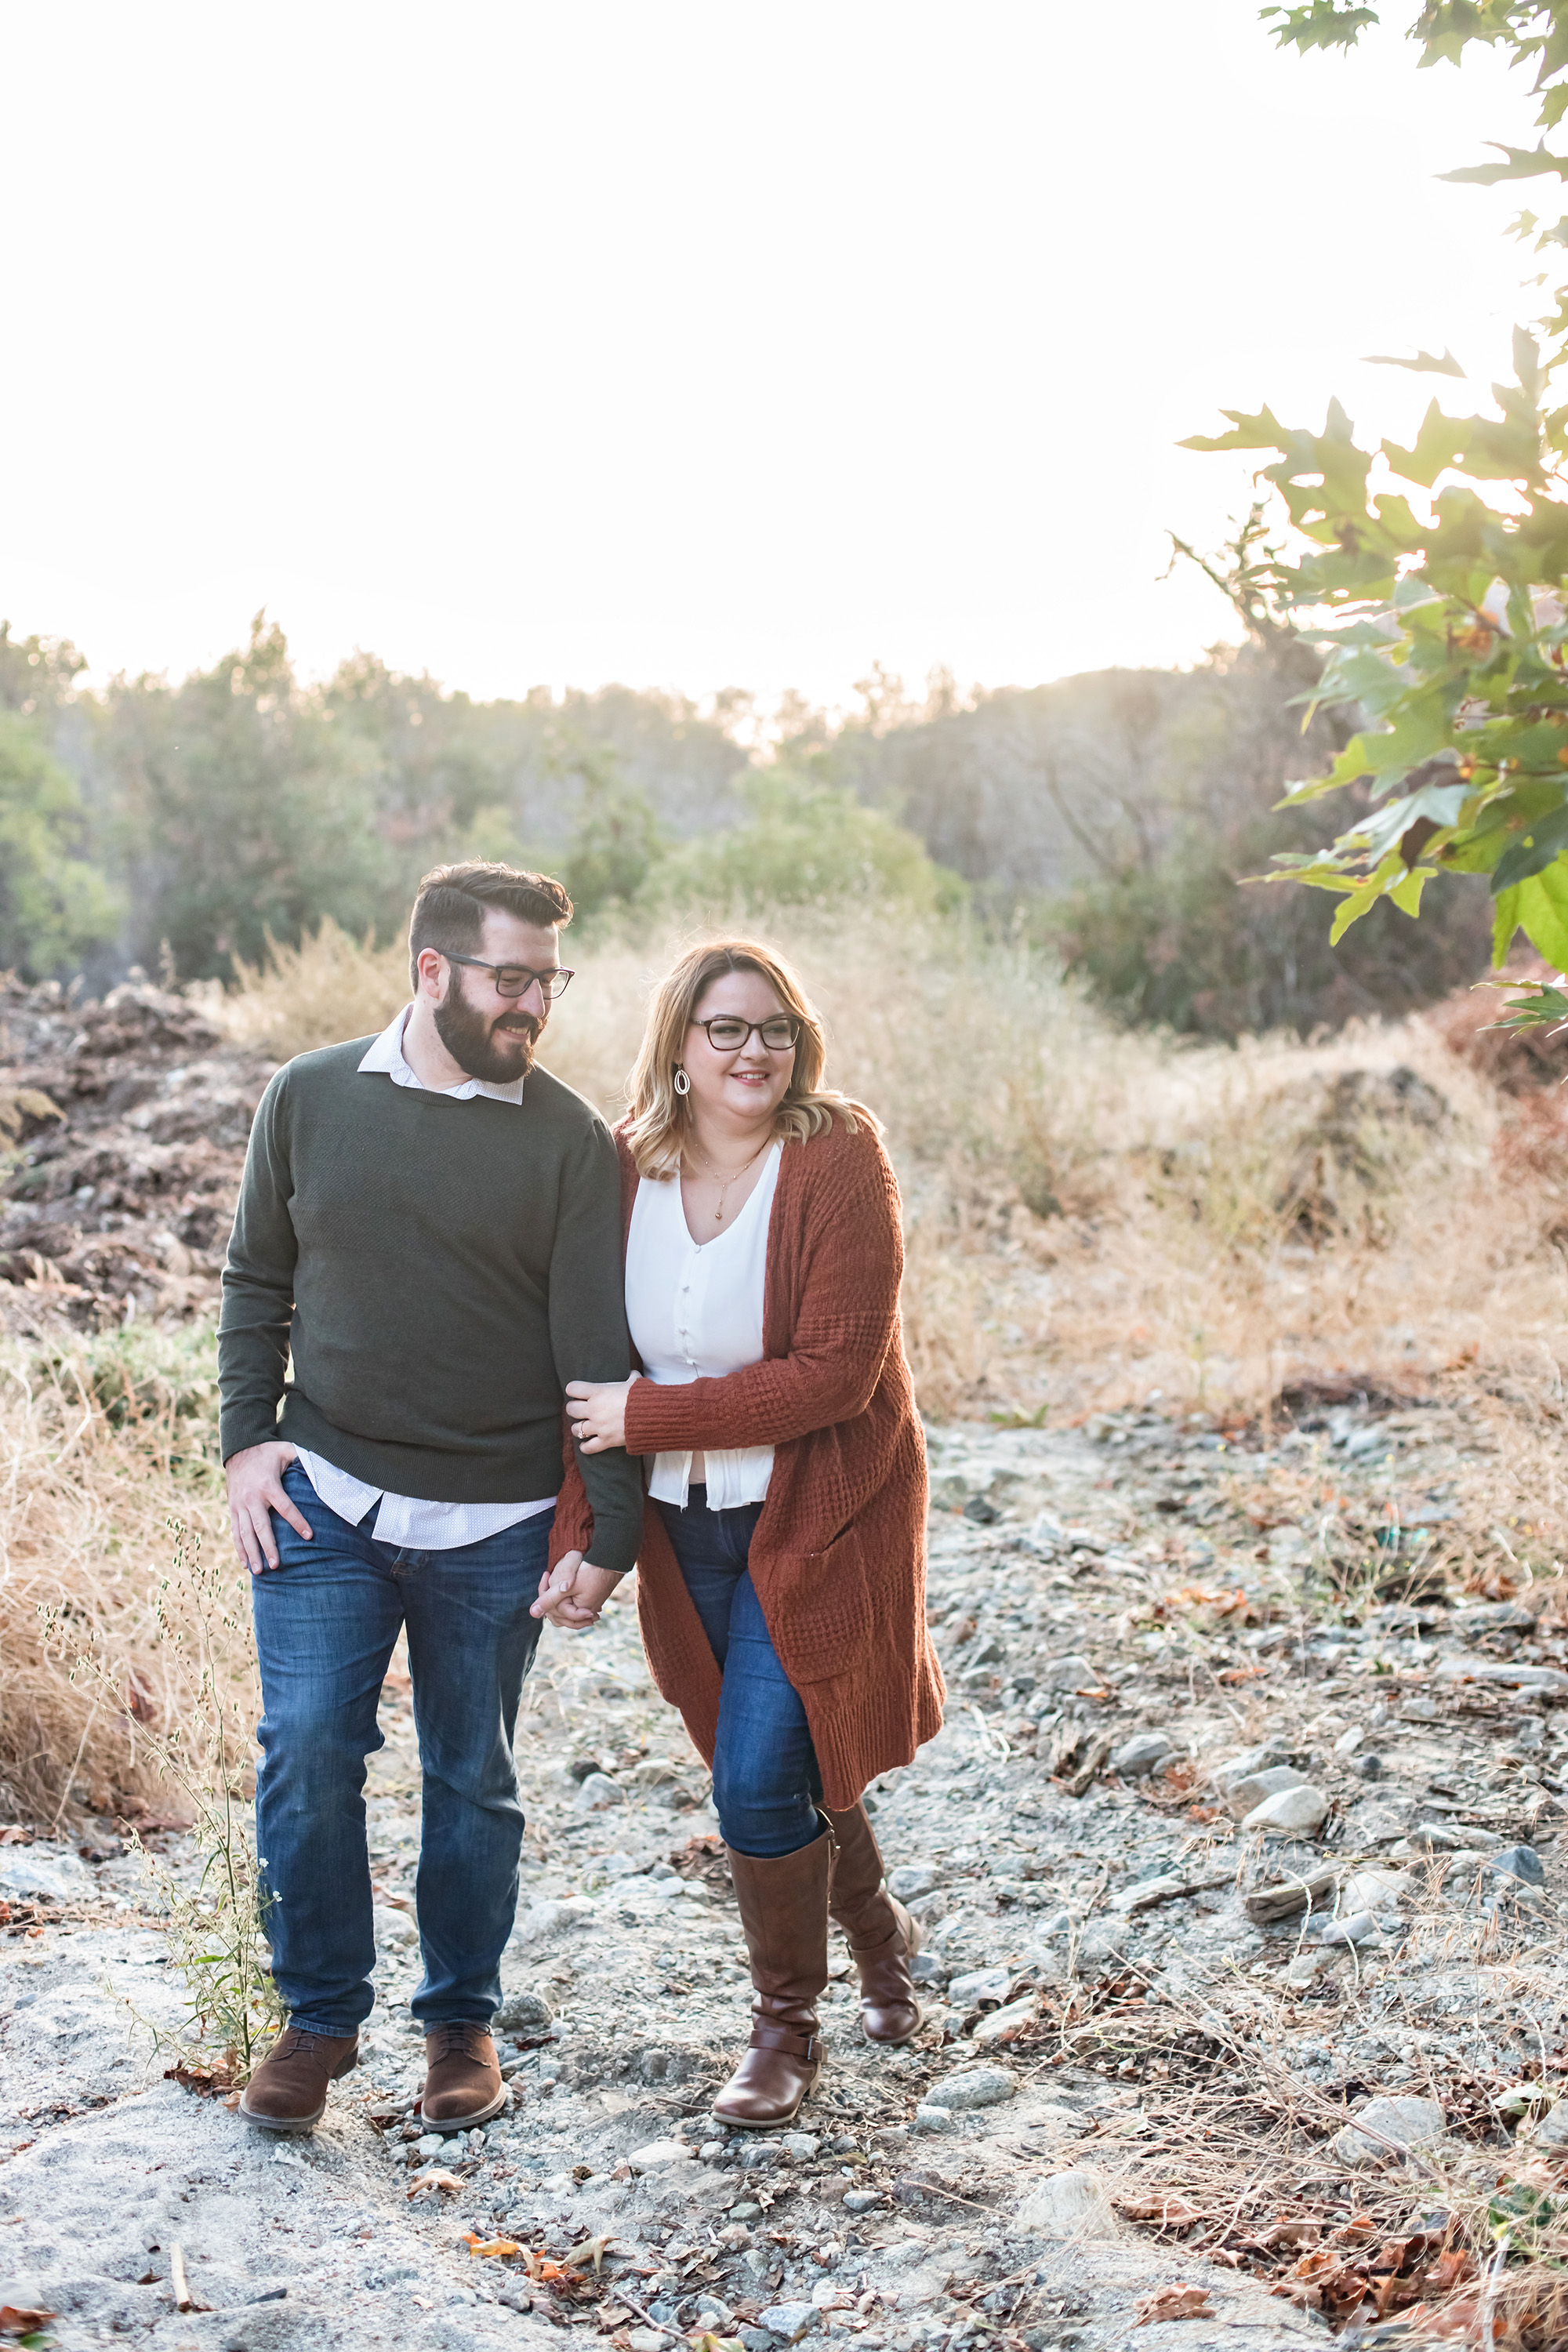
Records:
[[[762,948],[755,938],[715,938],[705,948],[686,953],[665,971],[649,1002],[649,1018],[642,1047],[632,1063],[625,1091],[632,1105],[628,1143],[639,1176],[677,1176],[686,1127],[691,1122],[691,1096],[675,1091],[675,1070],[686,1051],[686,1030],[710,985],[726,971],[755,971],[769,983],[788,1014],[799,1021],[795,1044],[795,1073],[790,1091],[773,1115],[773,1134],[785,1143],[806,1143],[835,1117],[858,1134],[860,1120],[849,1096],[837,1087],[823,1087],[827,1063],[827,1040],[811,997],[783,955]]]

